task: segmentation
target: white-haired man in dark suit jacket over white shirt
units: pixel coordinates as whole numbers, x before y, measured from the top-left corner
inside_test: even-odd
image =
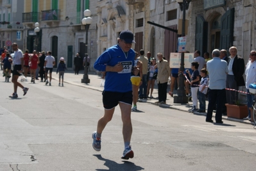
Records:
[[[244,59],[237,56],[237,48],[235,46],[229,49],[228,57],[228,75],[226,76],[226,88],[238,90],[239,86],[244,86]],[[234,90],[226,91],[226,102],[234,104],[238,99],[238,92]]]

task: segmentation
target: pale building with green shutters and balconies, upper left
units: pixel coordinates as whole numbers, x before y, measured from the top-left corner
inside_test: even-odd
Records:
[[[74,56],[85,56],[85,26],[81,24],[83,11],[91,11],[92,24],[88,31],[88,53],[93,63],[97,58],[96,1],[89,0],[24,0],[24,49],[30,52],[51,51],[56,61],[64,57],[67,67],[73,68]],[[34,24],[40,32],[34,32]],[[56,67],[56,66],[55,66]],[[90,69],[93,66],[90,65]]]

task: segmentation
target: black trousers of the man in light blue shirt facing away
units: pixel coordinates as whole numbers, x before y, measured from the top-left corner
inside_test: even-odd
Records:
[[[209,104],[208,104],[206,120],[212,119],[212,111],[214,109],[214,105],[216,104],[217,104],[217,109],[216,109],[215,119],[216,121],[222,120],[222,108],[223,108],[224,99],[225,99],[225,88],[222,90],[211,90],[209,88],[209,95],[208,95]]]

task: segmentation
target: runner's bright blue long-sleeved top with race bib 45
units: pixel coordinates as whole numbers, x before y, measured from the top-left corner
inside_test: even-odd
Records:
[[[131,72],[134,63],[135,52],[130,49],[124,53],[119,45],[108,48],[94,63],[94,69],[105,71],[106,66],[114,67],[117,63],[123,65],[121,72],[106,72],[104,90],[109,92],[132,91]]]

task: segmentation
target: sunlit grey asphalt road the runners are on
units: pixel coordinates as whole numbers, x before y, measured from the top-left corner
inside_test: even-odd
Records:
[[[0,78],[0,170],[255,170],[256,130],[225,121],[140,103],[132,112],[133,159],[124,161],[119,107],[102,134],[91,134],[103,115],[101,92],[65,84],[22,83],[30,90],[10,99]]]

